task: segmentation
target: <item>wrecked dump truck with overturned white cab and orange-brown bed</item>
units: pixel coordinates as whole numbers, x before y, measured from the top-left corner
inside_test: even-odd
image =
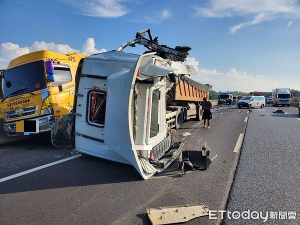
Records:
[[[135,44],[148,51],[141,55],[123,51]],[[200,102],[211,89],[188,77],[196,74],[183,63],[189,49],[160,45],[146,29],[117,50],[81,59],[72,116],[61,120],[65,125],[60,120],[53,125],[52,143],[59,142],[58,133],[66,139],[70,133],[73,149],[133,165],[144,179],[164,170],[183,145],[172,127],[184,119],[200,120]],[[67,129],[70,118],[71,131],[59,132]]]

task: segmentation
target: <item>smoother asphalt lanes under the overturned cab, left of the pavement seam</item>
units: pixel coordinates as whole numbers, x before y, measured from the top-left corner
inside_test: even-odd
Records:
[[[179,177],[177,171],[169,171],[142,180],[132,166],[78,155],[0,181],[0,223],[150,224],[146,214],[149,207],[200,202],[208,205],[210,210],[225,209],[238,162],[240,136],[244,133],[248,115],[250,122],[255,113],[261,113],[260,109],[248,113],[245,108],[222,107],[214,109],[210,129],[201,128],[202,122],[183,123],[178,134],[192,133],[186,137],[178,136],[179,140],[186,141],[183,149],[200,149],[206,141],[212,160],[207,170],[190,171],[183,177]],[[260,119],[267,117],[270,116],[258,116]],[[256,128],[247,130],[255,134]],[[250,131],[246,132],[245,140],[250,135],[247,133]],[[69,159],[69,152],[69,149],[51,146],[47,136],[0,146],[0,180],[63,158]],[[240,166],[247,167],[242,165],[242,159]],[[234,188],[235,183],[231,193]],[[230,198],[228,207],[232,200],[234,198]],[[219,222],[220,215],[215,220],[203,216],[186,224]]]

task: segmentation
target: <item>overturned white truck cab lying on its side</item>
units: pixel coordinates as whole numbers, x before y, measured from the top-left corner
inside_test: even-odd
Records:
[[[133,165],[144,179],[181,151],[167,129],[165,93],[173,85],[167,75],[190,71],[154,54],[113,50],[83,59],[73,108],[74,148]]]

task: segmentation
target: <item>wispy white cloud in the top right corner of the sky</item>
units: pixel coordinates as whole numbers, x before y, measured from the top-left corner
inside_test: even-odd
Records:
[[[247,16],[251,20],[230,27],[234,33],[238,29],[277,17],[300,17],[298,0],[210,0],[207,7],[194,6],[197,15],[203,17]]]

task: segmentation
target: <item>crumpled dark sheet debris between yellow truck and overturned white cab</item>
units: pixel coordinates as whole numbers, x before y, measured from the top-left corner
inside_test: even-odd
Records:
[[[71,147],[72,114],[58,119],[51,127],[51,142],[56,147]]]

